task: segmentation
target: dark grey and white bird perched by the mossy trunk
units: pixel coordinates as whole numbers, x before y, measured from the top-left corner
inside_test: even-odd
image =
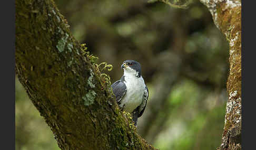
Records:
[[[119,108],[132,115],[134,125],[137,127],[137,118],[142,116],[146,108],[149,89],[142,78],[139,62],[125,60],[121,68],[123,69],[123,76],[120,80],[115,81],[111,87]]]

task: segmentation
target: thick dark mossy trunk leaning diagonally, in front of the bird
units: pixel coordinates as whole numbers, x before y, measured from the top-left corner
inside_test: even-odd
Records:
[[[61,149],[155,149],[119,111],[110,84],[51,0],[16,0],[15,70]],[[96,40],[96,39],[95,39]]]

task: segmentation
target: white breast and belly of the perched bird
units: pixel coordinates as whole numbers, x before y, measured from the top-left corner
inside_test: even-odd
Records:
[[[134,75],[129,76],[125,74],[124,83],[126,85],[126,93],[121,101],[121,107],[125,112],[133,112],[143,101],[143,94],[145,90],[145,83],[142,78],[135,77]]]

